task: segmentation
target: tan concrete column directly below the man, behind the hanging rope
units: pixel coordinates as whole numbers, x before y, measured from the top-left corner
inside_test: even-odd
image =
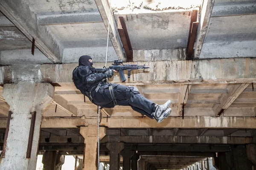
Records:
[[[80,127],[80,133],[84,137],[84,164],[83,170],[97,170],[98,164],[98,126],[89,125]],[[106,128],[99,128],[99,140],[106,135]]]

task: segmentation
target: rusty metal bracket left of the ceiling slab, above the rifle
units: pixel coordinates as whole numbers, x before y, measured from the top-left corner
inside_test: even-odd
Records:
[[[131,48],[131,41],[128,35],[128,31],[125,25],[125,19],[123,16],[118,17],[117,30],[120,35],[123,47],[125,49],[127,61],[133,61],[133,51]]]

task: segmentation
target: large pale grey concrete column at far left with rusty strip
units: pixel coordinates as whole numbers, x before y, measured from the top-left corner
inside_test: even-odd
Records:
[[[10,105],[9,133],[1,170],[35,170],[44,108],[53,100],[49,83],[5,84],[3,97]],[[36,113],[34,112],[36,111]]]

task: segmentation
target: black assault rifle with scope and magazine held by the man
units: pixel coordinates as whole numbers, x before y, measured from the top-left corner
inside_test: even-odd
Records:
[[[122,62],[123,62],[122,60],[114,60],[114,63],[111,66],[109,66],[108,68],[96,68],[96,70],[103,72],[103,73],[105,71],[107,71],[108,69],[115,70],[115,71],[119,72],[121,80],[122,80],[122,82],[124,82],[126,80],[125,75],[124,75],[124,70],[128,71],[128,78],[130,78],[131,70],[149,68],[149,67],[145,67],[145,64],[144,65],[137,65],[137,64],[125,64],[124,65]]]

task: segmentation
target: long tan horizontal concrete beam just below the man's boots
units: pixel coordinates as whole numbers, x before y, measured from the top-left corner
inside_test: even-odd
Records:
[[[102,117],[100,126],[123,128],[243,128],[256,129],[256,117],[210,117],[185,116],[166,118],[157,123],[155,120],[143,117]],[[0,118],[0,128],[6,128],[7,119]],[[43,117],[41,128],[78,127],[84,125],[98,125],[98,119],[91,117]]]

